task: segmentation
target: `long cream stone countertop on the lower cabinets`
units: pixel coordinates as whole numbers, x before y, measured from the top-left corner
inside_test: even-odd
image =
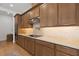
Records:
[[[19,35],[30,37],[25,34],[19,34]],[[42,37],[30,37],[30,38],[79,49],[79,39],[67,39],[62,36],[47,36],[47,35],[43,35]]]

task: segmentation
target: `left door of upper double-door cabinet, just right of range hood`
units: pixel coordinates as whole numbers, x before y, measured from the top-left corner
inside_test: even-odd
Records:
[[[42,4],[40,6],[40,25],[41,27],[46,27],[47,26],[47,4]]]

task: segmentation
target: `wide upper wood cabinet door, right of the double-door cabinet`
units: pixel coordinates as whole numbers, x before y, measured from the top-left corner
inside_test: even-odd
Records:
[[[59,25],[75,24],[75,4],[59,4]]]

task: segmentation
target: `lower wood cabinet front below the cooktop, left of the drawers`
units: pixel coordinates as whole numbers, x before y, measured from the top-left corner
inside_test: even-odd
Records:
[[[28,38],[28,37],[25,37],[25,49],[31,53],[32,55],[34,55],[34,39],[32,38]]]

